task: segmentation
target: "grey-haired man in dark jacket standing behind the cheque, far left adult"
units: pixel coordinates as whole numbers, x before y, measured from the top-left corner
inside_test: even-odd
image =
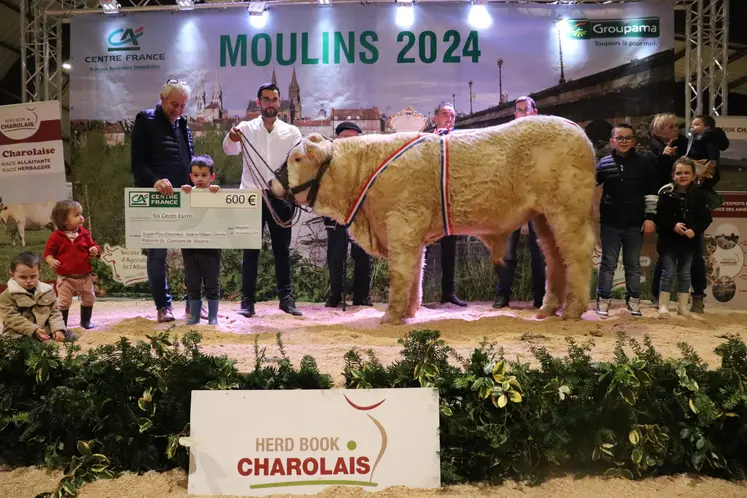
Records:
[[[189,183],[189,164],[194,155],[192,133],[182,116],[189,100],[189,87],[168,80],[155,109],[138,113],[132,128],[132,175],[136,187],[155,188],[164,195]],[[148,250],[148,286],[158,310],[159,322],[174,320],[166,281],[167,249]]]

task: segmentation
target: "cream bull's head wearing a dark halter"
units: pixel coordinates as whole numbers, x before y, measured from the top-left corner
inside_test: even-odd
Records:
[[[319,182],[332,158],[332,141],[312,133],[295,146],[270,182],[276,197],[313,207]]]

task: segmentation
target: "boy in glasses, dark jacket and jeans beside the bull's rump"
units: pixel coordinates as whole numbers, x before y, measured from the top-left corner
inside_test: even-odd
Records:
[[[623,253],[625,300],[633,316],[641,316],[641,246],[654,231],[657,185],[654,156],[635,149],[635,133],[627,123],[612,129],[612,152],[597,164],[597,185],[603,185],[599,206],[602,261],[597,280],[597,314],[609,316],[612,279]]]

